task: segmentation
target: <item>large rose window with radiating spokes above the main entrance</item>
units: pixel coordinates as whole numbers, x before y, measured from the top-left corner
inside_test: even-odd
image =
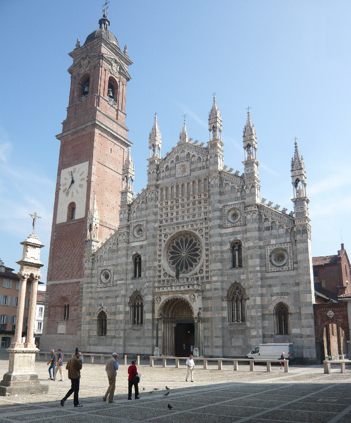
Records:
[[[202,258],[202,243],[192,232],[181,232],[172,236],[165,246],[165,257],[171,270],[189,273]]]

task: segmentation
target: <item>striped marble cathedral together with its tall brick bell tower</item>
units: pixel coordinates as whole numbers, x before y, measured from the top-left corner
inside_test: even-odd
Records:
[[[184,121],[164,157],[155,116],[147,185],[134,196],[125,126],[132,62],[106,14],[99,24],[71,53],[42,348],[240,357],[260,343],[293,342],[295,356],[313,362],[309,200],[296,142],[287,214],[261,198],[249,110],[234,173],[216,97],[209,139],[193,142]]]

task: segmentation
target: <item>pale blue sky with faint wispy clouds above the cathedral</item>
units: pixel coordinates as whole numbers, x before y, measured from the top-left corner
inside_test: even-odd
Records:
[[[46,281],[68,53],[98,28],[103,0],[2,0],[0,258],[19,266],[19,244],[36,233]],[[146,185],[148,135],[158,113],[162,157],[188,135],[208,140],[215,91],[225,164],[243,170],[246,108],[258,137],[261,195],[292,209],[290,161],[298,138],[307,172],[312,255],[351,252],[349,1],[111,0],[110,30],[129,67],[127,125],[135,192]]]

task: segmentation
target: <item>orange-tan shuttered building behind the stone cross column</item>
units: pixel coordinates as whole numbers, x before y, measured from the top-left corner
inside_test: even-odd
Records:
[[[20,278],[13,273],[13,270],[11,267],[6,267],[0,260],[0,337],[1,348],[4,349],[9,348],[13,342],[16,327]],[[28,284],[22,337],[27,335],[30,297],[31,284]]]

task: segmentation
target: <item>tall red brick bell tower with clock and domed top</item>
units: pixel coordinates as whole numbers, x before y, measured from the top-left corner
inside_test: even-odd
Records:
[[[105,7],[99,29],[69,55],[71,88],[62,133],[48,263],[41,348],[73,350],[80,342],[80,297],[86,239],[99,245],[117,227],[122,169],[131,143],[125,125],[130,80],[127,46],[109,31]],[[89,211],[99,216],[98,231]],[[72,350],[72,351],[73,351]]]

